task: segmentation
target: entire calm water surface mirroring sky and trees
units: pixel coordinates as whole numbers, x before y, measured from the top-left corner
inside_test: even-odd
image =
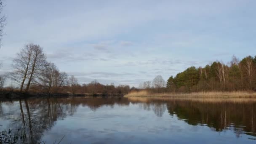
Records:
[[[255,112],[255,99],[27,99],[0,102],[0,131],[17,143],[256,144]]]

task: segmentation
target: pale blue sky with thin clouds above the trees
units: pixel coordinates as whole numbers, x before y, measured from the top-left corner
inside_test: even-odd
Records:
[[[138,86],[256,55],[256,0],[4,0],[0,73],[27,43],[79,83]]]

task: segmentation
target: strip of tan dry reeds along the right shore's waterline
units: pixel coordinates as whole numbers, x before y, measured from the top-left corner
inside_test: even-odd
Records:
[[[212,91],[212,92],[192,92],[192,93],[149,93],[148,91],[132,91],[125,95],[137,97],[256,97],[255,92],[248,91]]]

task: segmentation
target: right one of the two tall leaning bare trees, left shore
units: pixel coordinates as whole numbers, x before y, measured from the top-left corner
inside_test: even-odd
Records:
[[[32,47],[32,56],[31,56],[31,63],[30,63],[30,69],[29,69],[29,79],[27,82],[27,88],[25,92],[29,90],[29,86],[32,82],[32,80],[36,82],[37,78],[42,75],[42,71],[45,68],[46,57],[43,53],[43,48],[40,47],[40,45],[30,44]]]

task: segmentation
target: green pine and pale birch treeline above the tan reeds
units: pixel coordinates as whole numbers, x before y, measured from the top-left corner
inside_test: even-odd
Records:
[[[139,88],[153,92],[256,91],[256,56],[241,61],[233,56],[228,64],[214,61],[205,67],[192,66],[169,77],[166,88],[150,81],[141,83]]]

